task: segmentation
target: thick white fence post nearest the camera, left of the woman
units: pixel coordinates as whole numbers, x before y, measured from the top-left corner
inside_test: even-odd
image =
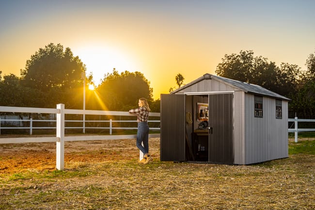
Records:
[[[56,169],[63,170],[64,168],[64,104],[58,104],[57,109],[60,113],[57,113],[56,122],[56,137],[59,140],[56,142]]]

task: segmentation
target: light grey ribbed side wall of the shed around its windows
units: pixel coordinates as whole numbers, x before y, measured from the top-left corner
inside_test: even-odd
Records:
[[[276,119],[273,98],[263,97],[263,118],[255,118],[254,95],[245,94],[245,110],[245,164],[287,157],[287,102],[283,101],[283,119]]]

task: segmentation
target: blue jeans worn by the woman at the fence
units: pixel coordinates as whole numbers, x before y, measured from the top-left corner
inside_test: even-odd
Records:
[[[143,143],[143,146],[142,146]],[[146,154],[149,152],[149,125],[148,122],[138,122],[137,147]]]

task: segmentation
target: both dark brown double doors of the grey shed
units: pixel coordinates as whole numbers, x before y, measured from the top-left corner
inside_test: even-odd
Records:
[[[185,95],[161,94],[161,161],[186,161]],[[233,163],[233,94],[209,94],[208,162]]]

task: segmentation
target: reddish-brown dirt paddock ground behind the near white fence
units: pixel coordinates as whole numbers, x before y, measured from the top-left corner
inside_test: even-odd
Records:
[[[150,138],[150,153],[159,159],[159,138]],[[121,159],[139,159],[136,139],[66,141],[64,166],[75,162],[107,162]],[[18,173],[35,169],[55,170],[56,143],[0,144],[0,174]]]

